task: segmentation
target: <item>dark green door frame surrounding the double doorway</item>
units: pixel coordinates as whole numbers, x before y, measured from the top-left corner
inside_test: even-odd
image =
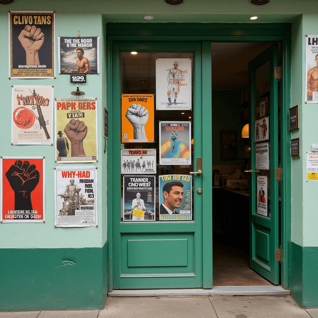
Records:
[[[290,132],[288,129],[288,109],[290,108],[290,87],[291,87],[291,24],[271,23],[271,24],[221,24],[211,23],[202,25],[199,23],[106,23],[106,101],[108,108],[108,129],[109,136],[113,135],[113,121],[118,120],[112,116],[112,51],[114,41],[191,41],[202,42],[202,52],[208,59],[208,52],[211,53],[211,42],[281,42],[280,63],[282,66],[281,79],[281,165],[283,176],[281,182],[281,246],[283,250],[283,261],[281,266],[281,284],[284,288],[290,288],[290,245],[291,245],[291,160],[290,160]],[[171,30],[176,28],[176,35],[171,35]],[[200,34],[200,35],[197,35]],[[210,54],[211,59],[211,54]],[[211,70],[202,70],[202,90],[208,89],[211,83]],[[107,83],[107,87],[106,87]],[[211,88],[211,87],[210,87]],[[206,101],[211,101],[211,94]],[[208,116],[207,116],[208,117]],[[204,115],[202,116],[204,123]],[[211,123],[205,123],[203,133],[211,134]],[[117,132],[114,132],[117,133]],[[212,145],[211,145],[212,147]],[[107,198],[112,198],[114,183],[113,171],[113,142],[111,138],[107,140]],[[210,153],[210,149],[204,149],[205,153]],[[204,164],[204,163],[203,163]],[[208,167],[204,167],[204,175],[207,176]],[[207,177],[206,177],[207,178]],[[211,169],[212,178],[212,169]],[[111,180],[108,182],[108,180]],[[204,206],[211,206],[212,196],[204,196]],[[107,249],[103,262],[107,267],[107,289],[113,289],[113,200],[107,199]],[[205,209],[203,218],[203,288],[212,288],[212,211],[207,213]],[[104,212],[103,212],[104,213]],[[106,277],[105,277],[106,279]]]

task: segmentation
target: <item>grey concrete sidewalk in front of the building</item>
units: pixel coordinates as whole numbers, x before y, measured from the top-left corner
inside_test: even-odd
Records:
[[[318,318],[284,296],[107,297],[101,310],[0,312],[0,318]]]

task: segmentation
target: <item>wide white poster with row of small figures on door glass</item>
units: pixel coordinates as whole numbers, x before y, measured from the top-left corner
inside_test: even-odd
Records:
[[[156,174],[156,149],[121,149],[121,174]]]

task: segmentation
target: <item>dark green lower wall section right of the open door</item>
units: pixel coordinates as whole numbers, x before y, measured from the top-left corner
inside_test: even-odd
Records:
[[[291,294],[301,307],[318,308],[318,247],[291,243]]]

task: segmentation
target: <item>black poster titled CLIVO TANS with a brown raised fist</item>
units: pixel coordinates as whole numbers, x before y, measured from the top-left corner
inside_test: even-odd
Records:
[[[55,13],[9,11],[9,79],[55,78]]]

